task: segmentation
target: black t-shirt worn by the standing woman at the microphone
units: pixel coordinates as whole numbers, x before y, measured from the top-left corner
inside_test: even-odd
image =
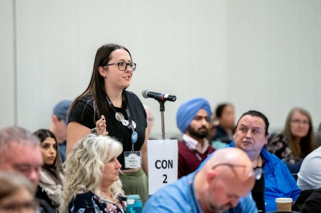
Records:
[[[131,119],[136,123],[135,131],[137,132],[138,138],[134,143],[134,151],[139,151],[145,141],[145,129],[147,127],[146,111],[143,107],[142,102],[133,92],[125,90],[124,94],[126,97]],[[90,98],[91,96],[88,95],[82,97],[78,101],[78,103],[72,109],[68,122],[74,121],[88,127],[89,129],[93,129],[96,127],[96,121],[100,120],[101,114],[96,114],[94,118],[93,100],[88,102]],[[108,104],[107,100],[106,104]],[[125,119],[128,120],[124,106],[122,106],[121,108],[115,108],[117,112],[122,113],[125,116]],[[106,130],[108,131],[109,136],[117,138],[123,144],[123,153],[120,154],[117,159],[122,165],[122,170],[125,170],[124,152],[132,150],[131,136],[133,131],[116,120],[115,114],[112,111],[111,107],[108,107],[108,110],[110,114],[104,114],[106,119]]]

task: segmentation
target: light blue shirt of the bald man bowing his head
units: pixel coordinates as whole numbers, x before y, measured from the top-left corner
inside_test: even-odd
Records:
[[[184,176],[175,183],[164,186],[150,197],[143,212],[203,212],[194,192],[194,177],[197,171]],[[236,207],[225,213],[257,213],[255,202],[248,196],[240,198]]]

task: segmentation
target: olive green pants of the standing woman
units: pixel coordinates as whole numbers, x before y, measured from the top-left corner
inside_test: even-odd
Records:
[[[125,195],[129,194],[139,194],[143,205],[148,199],[148,178],[140,168],[138,171],[135,172],[126,172],[120,173],[119,172],[119,179],[122,182],[123,190]]]

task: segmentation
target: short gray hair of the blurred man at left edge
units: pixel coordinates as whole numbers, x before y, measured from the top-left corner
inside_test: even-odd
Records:
[[[0,149],[12,142],[27,144],[30,146],[40,146],[40,140],[31,132],[18,126],[7,127],[0,130]]]

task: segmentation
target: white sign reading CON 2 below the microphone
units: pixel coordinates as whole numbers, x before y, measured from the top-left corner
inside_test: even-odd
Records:
[[[147,140],[147,154],[149,194],[154,194],[177,180],[177,140]]]

